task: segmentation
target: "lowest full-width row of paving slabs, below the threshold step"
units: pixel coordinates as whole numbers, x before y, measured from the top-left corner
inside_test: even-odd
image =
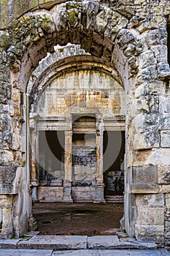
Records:
[[[139,250],[139,249],[115,249],[115,250],[74,250],[53,252],[49,249],[0,249],[1,256],[169,256],[166,249]]]

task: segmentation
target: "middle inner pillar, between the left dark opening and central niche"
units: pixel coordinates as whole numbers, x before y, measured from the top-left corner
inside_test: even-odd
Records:
[[[72,131],[65,131],[65,166],[63,179],[63,201],[72,200]]]

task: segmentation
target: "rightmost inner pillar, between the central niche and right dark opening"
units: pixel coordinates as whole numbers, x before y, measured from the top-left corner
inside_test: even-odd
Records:
[[[96,196],[93,203],[106,203],[104,200],[104,163],[103,163],[103,147],[104,147],[104,122],[99,120],[96,124]]]

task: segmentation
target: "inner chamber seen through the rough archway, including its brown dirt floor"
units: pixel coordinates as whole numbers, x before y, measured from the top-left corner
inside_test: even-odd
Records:
[[[34,90],[33,214],[42,234],[115,235],[123,217],[125,91],[105,64],[94,68],[98,64],[89,55],[77,69],[78,57],[70,57],[74,69],[68,58],[58,77],[52,74],[45,85],[40,80]],[[122,200],[110,205],[110,196]]]

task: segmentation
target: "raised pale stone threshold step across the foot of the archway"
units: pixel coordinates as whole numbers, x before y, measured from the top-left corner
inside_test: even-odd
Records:
[[[157,249],[154,241],[117,236],[40,236],[1,239],[0,249]]]

